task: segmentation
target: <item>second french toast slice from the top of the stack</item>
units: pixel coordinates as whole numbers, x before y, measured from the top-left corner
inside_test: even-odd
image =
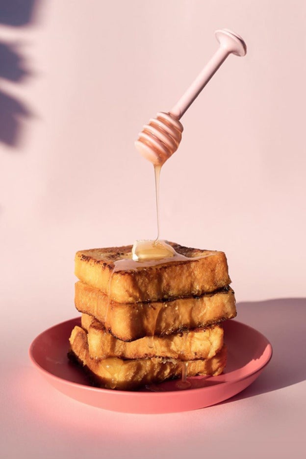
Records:
[[[123,341],[203,328],[236,316],[235,296],[230,287],[200,297],[123,304],[108,300],[101,290],[78,281],[75,305],[79,312],[94,316]]]

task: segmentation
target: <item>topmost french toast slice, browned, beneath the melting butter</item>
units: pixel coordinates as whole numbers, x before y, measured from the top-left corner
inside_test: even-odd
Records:
[[[224,252],[169,244],[178,257],[148,262],[133,262],[131,245],[81,250],[75,257],[75,274],[117,303],[202,295],[229,285]],[[118,264],[119,260],[130,262],[124,268],[124,264],[122,267]]]

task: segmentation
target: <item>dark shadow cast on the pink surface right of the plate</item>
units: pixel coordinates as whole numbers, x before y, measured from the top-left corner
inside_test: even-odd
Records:
[[[273,356],[258,379],[229,402],[306,380],[306,298],[238,303],[237,320],[265,335]]]

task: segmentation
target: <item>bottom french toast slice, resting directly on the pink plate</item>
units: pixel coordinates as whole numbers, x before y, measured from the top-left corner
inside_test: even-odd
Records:
[[[227,351],[222,350],[214,357],[204,360],[181,362],[178,359],[159,357],[123,360],[91,358],[88,352],[87,334],[76,326],[69,338],[70,358],[76,358],[89,373],[91,379],[100,387],[133,390],[150,383],[160,383],[181,376],[182,365],[186,365],[187,377],[196,375],[216,376],[222,373],[226,365]]]

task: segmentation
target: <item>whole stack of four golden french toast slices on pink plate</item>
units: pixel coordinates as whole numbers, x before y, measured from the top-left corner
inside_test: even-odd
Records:
[[[147,263],[131,260],[132,246],[77,252],[82,315],[69,357],[95,385],[133,390],[223,372],[222,322],[236,315],[226,256],[170,244],[178,256]]]

